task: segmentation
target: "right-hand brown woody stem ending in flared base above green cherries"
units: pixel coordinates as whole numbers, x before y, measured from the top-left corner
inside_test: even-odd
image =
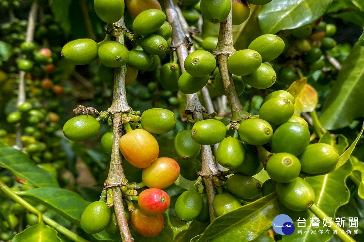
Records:
[[[236,93],[232,75],[227,70],[227,59],[235,52],[233,42],[233,13],[230,11],[227,19],[220,23],[219,37],[214,54],[217,54],[219,72],[232,112],[232,122],[237,122],[250,116],[250,113],[244,110]]]

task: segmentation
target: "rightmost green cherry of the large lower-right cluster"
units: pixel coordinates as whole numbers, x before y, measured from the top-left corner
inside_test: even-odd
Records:
[[[329,144],[310,144],[299,156],[302,171],[308,174],[320,174],[330,171],[339,162],[339,153]]]

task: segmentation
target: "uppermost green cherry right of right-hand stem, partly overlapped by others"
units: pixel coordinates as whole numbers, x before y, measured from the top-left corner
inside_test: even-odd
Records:
[[[248,49],[256,50],[261,55],[262,62],[267,62],[282,54],[284,42],[274,34],[264,34],[253,40]]]

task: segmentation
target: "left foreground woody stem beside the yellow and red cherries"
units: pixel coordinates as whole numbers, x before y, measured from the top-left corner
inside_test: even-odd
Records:
[[[122,17],[116,26],[120,27],[120,35],[116,37],[116,42],[124,44],[125,27],[124,17]],[[114,93],[112,97],[111,107],[108,111],[112,115],[113,121],[113,139],[112,139],[112,151],[110,160],[110,169],[105,181],[105,185],[112,188],[114,194],[113,205],[115,208],[116,218],[120,229],[120,235],[123,242],[132,242],[134,239],[131,236],[128,222],[123,205],[123,197],[121,186],[127,184],[127,179],[123,170],[123,157],[119,149],[119,140],[122,136],[122,113],[132,111],[126,99],[125,90],[125,74],[124,66],[116,67],[114,72]]]

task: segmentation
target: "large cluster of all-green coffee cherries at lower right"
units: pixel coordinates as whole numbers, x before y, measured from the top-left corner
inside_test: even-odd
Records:
[[[201,145],[219,143],[215,159],[229,169],[226,174],[233,175],[219,177],[223,182],[213,200],[216,216],[272,192],[291,210],[309,208],[314,203],[314,190],[300,175],[330,172],[339,161],[339,153],[333,146],[309,144],[308,124],[294,115],[294,98],[287,91],[270,93],[262,102],[258,116],[235,124],[233,133],[230,129],[227,132],[229,127],[222,118],[215,117],[196,122],[175,138],[176,154],[191,167],[197,167],[194,160]],[[262,184],[253,176],[263,168],[270,179]],[[196,179],[197,174],[194,175]],[[209,219],[206,194],[197,190],[182,193],[175,210],[184,221]]]

